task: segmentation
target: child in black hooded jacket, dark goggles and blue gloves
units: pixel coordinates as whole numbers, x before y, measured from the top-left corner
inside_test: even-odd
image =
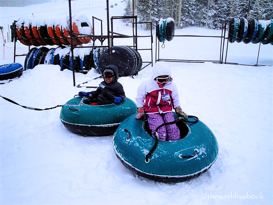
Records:
[[[103,79],[96,91],[79,92],[80,97],[92,97],[96,103],[91,105],[117,104],[124,100],[123,86],[117,82],[118,69],[115,65],[108,65],[103,72]]]

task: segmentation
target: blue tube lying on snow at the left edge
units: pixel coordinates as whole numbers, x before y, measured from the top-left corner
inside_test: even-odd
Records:
[[[24,71],[20,63],[11,63],[0,66],[0,80],[13,79],[20,77]]]

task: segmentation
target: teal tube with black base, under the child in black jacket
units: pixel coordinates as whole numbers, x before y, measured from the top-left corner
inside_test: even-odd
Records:
[[[63,125],[76,134],[112,135],[125,118],[137,112],[136,104],[129,98],[119,104],[89,105],[93,102],[91,98],[75,97],[65,103],[60,113]]]

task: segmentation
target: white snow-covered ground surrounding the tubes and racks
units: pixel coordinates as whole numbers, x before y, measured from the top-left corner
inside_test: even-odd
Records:
[[[106,19],[104,1],[72,2],[77,3],[75,12]],[[110,17],[124,13],[120,1],[109,1],[115,3],[118,6],[110,10]],[[42,7],[47,15],[56,11],[68,15],[67,1]],[[38,5],[1,7],[1,24],[40,10]],[[119,24],[120,32],[131,32]],[[175,34],[220,35],[221,31],[184,28]],[[155,42],[154,36],[154,54]],[[145,47],[149,39],[139,44]],[[272,48],[261,45],[258,62],[270,66],[169,63],[182,109],[198,116],[219,144],[212,167],[183,183],[164,184],[134,175],[115,156],[113,136],[69,132],[59,120],[60,107],[34,111],[0,98],[0,204],[272,204]],[[160,50],[160,58],[218,60],[219,50],[215,38],[174,38]],[[229,44],[227,61],[256,64],[257,52],[257,44]],[[140,54],[144,61],[149,60],[147,53]],[[13,62],[0,61],[1,65]],[[17,57],[16,62],[23,65],[24,57]],[[76,85],[98,75],[95,69],[86,75],[76,73]],[[121,77],[126,96],[135,101],[137,87],[150,75],[148,66],[134,79]],[[91,80],[87,85],[97,86],[100,81]],[[72,72],[60,71],[58,65],[38,65],[0,85],[1,96],[35,108],[64,104],[79,91],[90,90],[74,87]]]

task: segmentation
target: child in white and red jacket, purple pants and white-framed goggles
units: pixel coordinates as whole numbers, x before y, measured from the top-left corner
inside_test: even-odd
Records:
[[[144,81],[138,87],[136,102],[138,107],[136,119],[141,118],[145,112],[152,133],[164,122],[174,121],[172,109],[175,109],[178,115],[182,115],[184,118],[188,117],[180,108],[177,87],[172,82],[171,71],[166,62],[155,64],[152,79]],[[179,129],[175,124],[162,126],[158,130],[158,139],[179,140]]]

